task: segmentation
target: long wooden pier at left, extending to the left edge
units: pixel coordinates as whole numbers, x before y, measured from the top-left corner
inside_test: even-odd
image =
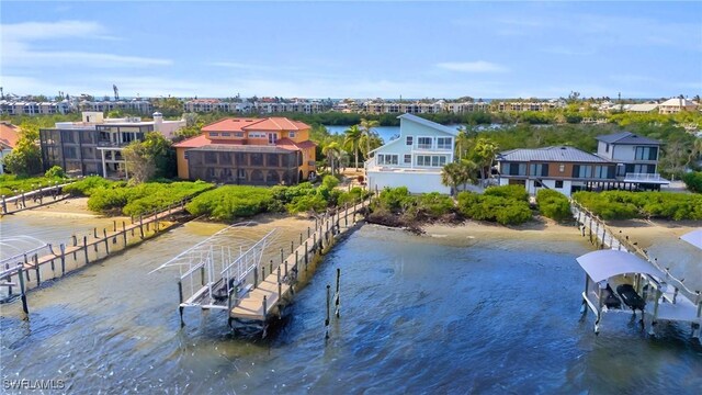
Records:
[[[0,302],[21,297],[24,318],[27,318],[27,291],[41,286],[43,281],[63,278],[71,270],[102,260],[156,236],[170,226],[167,224],[165,227],[163,221],[173,214],[182,213],[185,203],[186,200],[183,200],[146,216],[131,217],[128,224],[126,221],[122,221],[122,224],[113,221],[111,229],[103,228],[99,232],[98,228],[93,228],[89,235],[72,235],[67,244],[60,244],[58,248],[45,244],[0,260],[0,286],[7,287],[8,291],[0,296]]]

